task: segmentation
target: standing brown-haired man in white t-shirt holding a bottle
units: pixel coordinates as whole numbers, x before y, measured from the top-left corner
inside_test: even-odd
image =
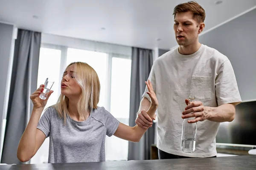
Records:
[[[189,1],[177,5],[173,14],[179,47],[157,58],[148,77],[159,101],[158,155],[160,159],[215,157],[219,124],[233,121],[235,105],[241,102],[236,77],[226,56],[198,41],[205,26],[204,9]],[[135,121],[143,128],[152,125],[145,112],[150,107],[146,92]],[[195,102],[189,104],[189,95],[195,96]],[[180,147],[182,122],[189,117],[196,117],[189,123],[197,122],[193,153],[183,152]]]

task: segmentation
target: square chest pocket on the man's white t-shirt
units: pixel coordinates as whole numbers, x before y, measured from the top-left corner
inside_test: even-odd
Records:
[[[211,99],[212,93],[212,77],[192,76],[190,95],[195,99]]]

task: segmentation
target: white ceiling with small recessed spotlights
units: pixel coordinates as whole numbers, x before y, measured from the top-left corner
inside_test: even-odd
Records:
[[[0,0],[0,21],[17,28],[140,48],[170,49],[173,8],[184,0]],[[211,30],[256,6],[256,0],[197,0]],[[33,17],[34,16],[34,17]],[[157,40],[160,39],[160,40]]]

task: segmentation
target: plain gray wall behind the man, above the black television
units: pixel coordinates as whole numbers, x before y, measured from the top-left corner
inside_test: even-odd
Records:
[[[233,66],[241,98],[256,100],[256,9],[199,37],[226,55]]]

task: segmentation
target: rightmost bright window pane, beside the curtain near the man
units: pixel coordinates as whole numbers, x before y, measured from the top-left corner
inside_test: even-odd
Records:
[[[131,59],[112,58],[111,69],[111,114],[129,125]],[[106,159],[127,160],[128,141],[111,136],[106,138]]]

